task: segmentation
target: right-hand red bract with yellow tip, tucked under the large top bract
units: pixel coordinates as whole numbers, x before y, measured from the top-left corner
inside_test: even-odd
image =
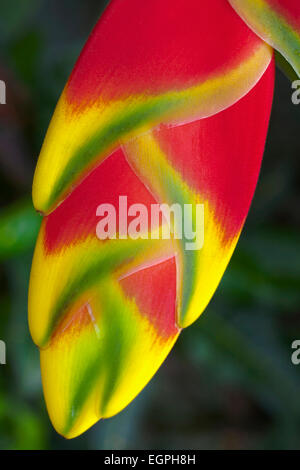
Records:
[[[272,63],[234,106],[207,119],[161,126],[124,146],[128,160],[161,203],[204,204],[204,245],[177,247],[178,325],[203,312],[238,241],[256,187],[271,112]],[[201,230],[201,227],[199,227]]]

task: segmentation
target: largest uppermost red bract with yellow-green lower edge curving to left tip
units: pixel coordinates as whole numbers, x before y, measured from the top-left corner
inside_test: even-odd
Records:
[[[271,49],[225,0],[112,0],[58,103],[38,161],[37,210],[57,205],[113,150],[161,123],[245,95]]]

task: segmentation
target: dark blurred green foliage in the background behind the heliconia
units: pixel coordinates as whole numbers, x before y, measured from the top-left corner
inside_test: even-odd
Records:
[[[254,203],[206,312],[120,415],[73,441],[51,427],[27,325],[41,220],[31,180],[56,101],[105,3],[1,1],[0,449],[300,448],[300,366],[291,363],[300,338],[300,107],[280,72]]]

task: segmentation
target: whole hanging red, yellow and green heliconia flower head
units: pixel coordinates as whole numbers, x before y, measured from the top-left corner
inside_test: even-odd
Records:
[[[112,0],[97,23],[33,184],[45,217],[29,324],[65,437],[130,403],[210,301],[254,194],[273,87],[272,49],[227,0]],[[157,204],[203,205],[201,249],[173,220],[160,236]],[[102,205],[115,215],[107,239]],[[123,236],[142,208],[140,236]]]

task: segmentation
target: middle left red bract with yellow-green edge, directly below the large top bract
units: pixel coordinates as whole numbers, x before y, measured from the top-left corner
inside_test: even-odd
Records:
[[[116,239],[97,238],[97,207],[111,204],[119,221],[124,217],[119,198],[124,196],[128,207],[143,204],[149,214],[156,203],[119,149],[44,218],[29,289],[29,324],[38,346],[49,344],[65,312],[84,290],[104,278],[118,278],[147,260],[153,263],[174,252],[172,240],[118,240],[118,224]]]

